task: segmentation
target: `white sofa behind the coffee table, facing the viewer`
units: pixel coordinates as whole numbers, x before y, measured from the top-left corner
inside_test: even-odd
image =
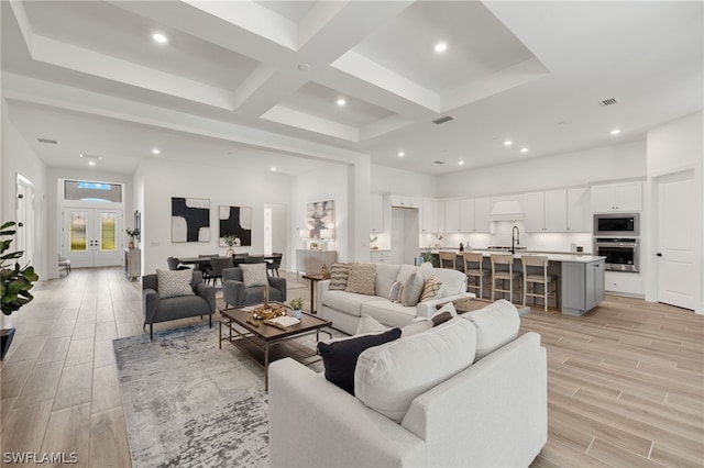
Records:
[[[392,302],[388,293],[394,281],[405,281],[418,269],[424,281],[431,275],[438,277],[442,282],[440,294],[433,300],[413,307]],[[466,292],[466,276],[462,271],[431,266],[377,264],[375,296],[330,290],[330,280],[324,280],[318,282],[316,301],[322,319],[331,321],[334,328],[352,335],[356,332],[358,323],[363,315],[370,315],[384,325],[403,326],[417,316],[432,316],[438,304],[465,297],[474,294]]]

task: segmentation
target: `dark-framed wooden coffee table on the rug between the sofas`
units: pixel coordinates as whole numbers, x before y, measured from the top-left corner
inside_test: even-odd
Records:
[[[332,334],[324,327],[331,326],[332,322],[318,319],[309,313],[301,313],[300,323],[287,327],[277,328],[257,321],[258,325],[253,325],[246,321],[252,307],[221,309],[220,315],[220,349],[222,342],[230,342],[241,349],[248,357],[260,366],[264,367],[264,390],[268,391],[268,365],[284,357],[310,365],[317,363],[306,361],[316,356],[316,349],[310,349],[300,343],[292,342],[294,338],[316,334],[316,341],[320,338],[320,333],[332,337]],[[223,330],[224,328],[224,330]],[[244,331],[243,331],[244,328]],[[223,331],[224,336],[223,336]]]

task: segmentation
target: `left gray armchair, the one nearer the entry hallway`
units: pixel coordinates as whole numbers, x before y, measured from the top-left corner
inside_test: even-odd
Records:
[[[212,314],[216,311],[216,288],[202,282],[202,274],[194,270],[190,287],[194,296],[179,296],[161,299],[156,275],[144,275],[142,278],[142,311],[144,326],[150,325],[150,339],[154,338],[154,324],[189,316],[208,315],[212,328]]]

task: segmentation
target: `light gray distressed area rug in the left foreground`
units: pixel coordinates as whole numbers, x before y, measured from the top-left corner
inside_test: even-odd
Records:
[[[264,371],[217,326],[112,343],[133,467],[268,466]]]

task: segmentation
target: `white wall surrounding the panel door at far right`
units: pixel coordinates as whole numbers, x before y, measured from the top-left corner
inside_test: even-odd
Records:
[[[682,200],[682,203],[688,205],[693,216],[698,216],[698,220],[696,220],[698,232],[694,233],[695,245],[697,246],[697,252],[695,253],[695,263],[697,265],[695,269],[700,274],[695,282],[700,286],[696,312],[704,314],[704,215],[702,213],[704,211],[702,202],[704,193],[703,142],[702,112],[678,119],[674,122],[648,132],[648,179],[646,182],[645,210],[650,213],[656,212],[656,178],[682,170],[694,170],[695,183],[697,185],[696,196],[694,200]],[[650,220],[651,222],[647,225],[647,236],[654,241],[658,220],[653,216],[650,216]],[[657,245],[654,242],[651,242],[649,248],[644,249],[641,253],[641,261],[650,266],[649,268],[646,267],[646,300],[648,301],[657,301],[657,263],[654,261],[654,248],[657,248]]]

